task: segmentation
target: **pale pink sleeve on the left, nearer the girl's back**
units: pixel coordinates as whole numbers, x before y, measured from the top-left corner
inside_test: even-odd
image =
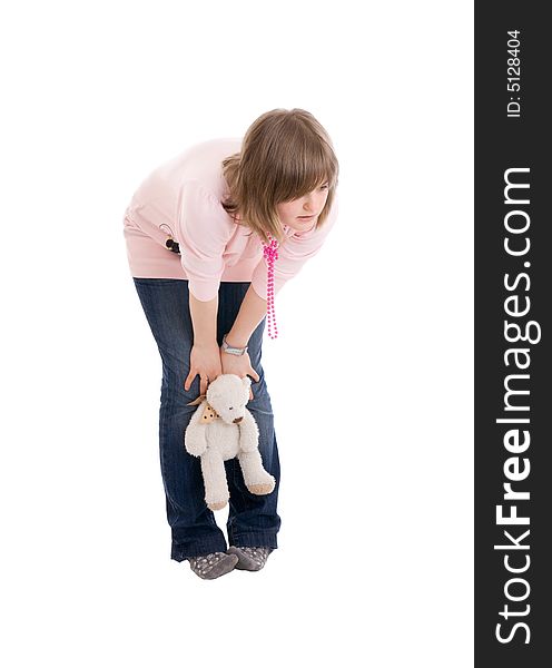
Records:
[[[183,185],[178,218],[180,262],[189,291],[201,302],[218,294],[225,268],[223,254],[233,227],[220,203],[199,181]]]

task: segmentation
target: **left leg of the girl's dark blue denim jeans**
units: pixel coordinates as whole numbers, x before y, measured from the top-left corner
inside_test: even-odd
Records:
[[[196,411],[187,404],[199,395],[199,376],[188,392],[184,390],[194,341],[188,282],[136,277],[134,282],[162,362],[159,456],[171,528],[170,558],[184,561],[224,552],[225,536],[205,503],[200,461],[184,446],[186,428]]]

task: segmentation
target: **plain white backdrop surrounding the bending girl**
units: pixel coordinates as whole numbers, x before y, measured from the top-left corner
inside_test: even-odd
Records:
[[[471,666],[471,3],[1,14],[2,664]],[[169,558],[122,214],[278,107],[333,138],[341,216],[265,334],[279,548],[204,581]]]

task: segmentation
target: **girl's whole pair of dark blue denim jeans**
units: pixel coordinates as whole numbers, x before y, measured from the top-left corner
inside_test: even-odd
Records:
[[[190,371],[194,328],[189,311],[188,281],[180,278],[136,278],[141,306],[146,314],[162,362],[159,410],[159,455],[165,488],[167,520],[171,528],[170,558],[184,561],[208,552],[225,552],[223,531],[205,502],[205,488],[199,458],[184,446],[184,433],[197,406],[188,402],[199,396],[199,376],[188,392],[184,382]],[[249,283],[220,283],[218,292],[217,341],[230,331]],[[266,317],[252,334],[248,353],[259,375],[252,379],[254,399],[247,409],[259,429],[259,452],[265,469],[276,480],[275,489],[265,495],[252,494],[245,487],[237,459],[225,462],[230,492],[227,532],[236,547],[276,549],[280,518],[276,512],[279,488],[279,459],[270,397],[260,364],[260,347]]]

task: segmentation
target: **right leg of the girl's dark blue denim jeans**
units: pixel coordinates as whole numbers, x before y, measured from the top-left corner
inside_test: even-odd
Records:
[[[219,291],[219,344],[226,332],[234,324],[239,306],[249,287],[249,283],[223,283]],[[247,403],[259,429],[259,452],[264,468],[275,478],[276,484],[269,494],[253,494],[246,488],[241,468],[237,458],[225,462],[228,490],[230,492],[227,521],[228,542],[236,547],[269,547],[276,549],[277,533],[282,519],[277,513],[278,488],[280,480],[278,445],[274,429],[274,414],[270,396],[260,363],[264,318],[248,343],[248,353],[253,369],[259,381],[252,383],[254,399]]]

